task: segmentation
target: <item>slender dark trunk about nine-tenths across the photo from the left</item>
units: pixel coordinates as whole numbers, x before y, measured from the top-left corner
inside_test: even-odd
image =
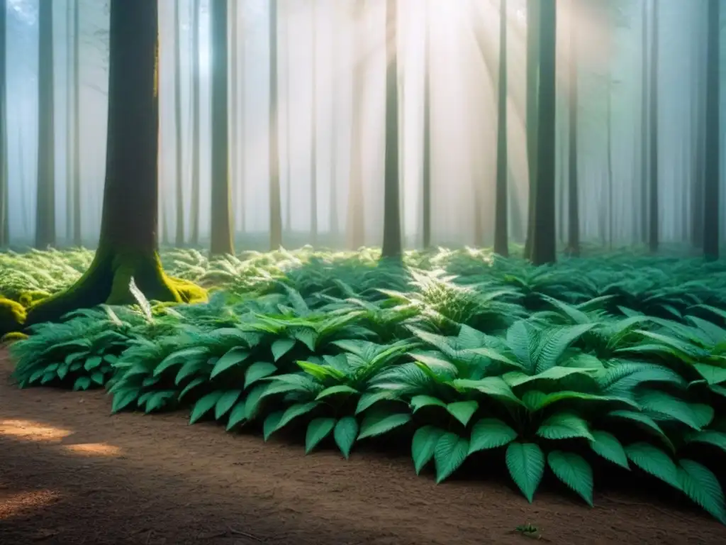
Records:
[[[658,251],[658,230],[660,214],[658,211],[658,0],[653,1],[653,31],[651,33],[650,59],[650,191],[648,195],[648,249]]]

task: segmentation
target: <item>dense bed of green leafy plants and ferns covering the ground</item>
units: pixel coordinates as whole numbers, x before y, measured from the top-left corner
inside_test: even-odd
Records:
[[[0,254],[0,293],[28,307],[91,257]],[[470,249],[409,252],[404,267],[372,250],[162,258],[210,300],[158,304],[131,286],[132,307],[34,326],[11,347],[20,387],[105,387],[113,411],[183,408],[192,424],[265,438],[303,429],[306,452],[403,438],[438,482],[499,450],[529,501],[551,472],[592,505],[610,464],[726,523],[722,262],[533,267]]]

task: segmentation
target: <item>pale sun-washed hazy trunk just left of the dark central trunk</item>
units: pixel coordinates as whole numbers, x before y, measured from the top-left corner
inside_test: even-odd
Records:
[[[356,20],[354,29],[354,65],[352,102],[353,113],[351,122],[351,166],[348,178],[348,214],[347,238],[348,247],[359,249],[365,243],[365,198],[363,193],[363,142],[362,120],[364,108],[364,86],[366,69],[365,29],[363,17],[365,4],[356,0]]]

